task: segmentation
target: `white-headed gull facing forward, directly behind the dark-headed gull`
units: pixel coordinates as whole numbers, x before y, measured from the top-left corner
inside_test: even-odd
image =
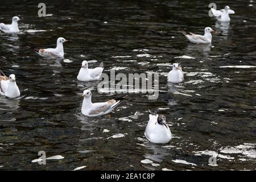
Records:
[[[180,63],[172,64],[172,70],[168,73],[168,81],[178,84],[184,81],[184,75]]]

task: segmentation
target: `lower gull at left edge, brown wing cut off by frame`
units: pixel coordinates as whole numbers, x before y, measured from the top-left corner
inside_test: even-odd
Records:
[[[15,75],[11,74],[7,77],[2,71],[0,72],[3,74],[3,76],[0,76],[0,94],[9,98],[19,97],[20,92],[15,81]]]

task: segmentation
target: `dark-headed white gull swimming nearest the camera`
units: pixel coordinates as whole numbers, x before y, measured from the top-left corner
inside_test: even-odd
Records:
[[[150,111],[150,110],[149,110]],[[152,143],[168,143],[172,138],[171,130],[166,125],[166,117],[157,114],[158,109],[150,111],[145,137]]]

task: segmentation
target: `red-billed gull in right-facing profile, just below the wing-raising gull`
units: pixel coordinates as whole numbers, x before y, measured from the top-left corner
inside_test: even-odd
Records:
[[[204,35],[197,35],[188,33],[184,30],[180,31],[185,37],[192,43],[197,44],[210,44],[212,43],[212,34],[210,32],[213,32],[213,34],[216,32],[215,30],[212,30],[210,27],[204,28]]]

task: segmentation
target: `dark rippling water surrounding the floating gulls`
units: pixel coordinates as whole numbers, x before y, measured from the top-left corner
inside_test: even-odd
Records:
[[[230,24],[209,17],[209,3],[49,1],[47,14],[52,15],[38,18],[37,2],[1,2],[1,22],[9,23],[13,15],[23,21],[21,34],[0,34],[1,69],[15,73],[21,91],[18,100],[0,98],[0,169],[254,170],[256,3],[229,2],[236,11]],[[217,9],[225,5],[218,1]],[[217,30],[210,46],[191,44],[177,32],[181,27],[203,34],[207,26]],[[26,48],[30,43],[53,47],[60,36],[71,40],[64,44],[64,60],[43,59]],[[195,59],[175,58],[183,55]],[[108,74],[113,67],[125,74],[158,72],[158,100],[130,94],[112,118],[83,117],[82,90],[98,82],[76,80],[82,60],[97,60],[91,67],[104,61]],[[185,81],[169,86],[167,73],[176,61],[182,62]],[[96,88],[92,94],[93,101],[118,96],[99,94]],[[166,145],[144,138],[147,109],[155,107],[166,115],[174,135]],[[115,134],[125,136],[111,138]],[[32,163],[38,151],[64,159]],[[208,165],[213,154],[218,166]]]

